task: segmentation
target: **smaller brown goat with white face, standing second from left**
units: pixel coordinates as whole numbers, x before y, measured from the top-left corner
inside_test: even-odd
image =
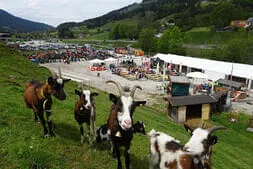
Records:
[[[91,93],[90,90],[75,90],[75,94],[79,96],[79,99],[75,105],[75,120],[79,124],[81,133],[81,144],[84,141],[83,123],[86,123],[88,129],[89,143],[91,144],[90,122],[92,123],[93,137],[96,138],[96,111],[94,96],[98,96],[98,93]]]

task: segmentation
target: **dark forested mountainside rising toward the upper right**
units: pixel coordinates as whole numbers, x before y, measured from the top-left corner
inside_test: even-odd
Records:
[[[252,0],[142,0],[140,3],[133,3],[83,22],[62,23],[57,29],[79,26],[94,29],[107,23],[133,18],[139,18],[139,22],[150,18],[147,22],[156,25],[153,26],[156,29],[168,24],[170,20],[184,30],[213,25],[224,27],[229,25],[231,20],[252,17],[252,9]]]

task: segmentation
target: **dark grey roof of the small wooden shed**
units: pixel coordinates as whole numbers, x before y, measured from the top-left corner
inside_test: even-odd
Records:
[[[210,95],[178,96],[172,97],[170,100],[172,106],[197,105],[216,102],[217,100]]]

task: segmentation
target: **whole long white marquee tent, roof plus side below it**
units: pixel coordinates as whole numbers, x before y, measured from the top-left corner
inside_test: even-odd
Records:
[[[187,73],[191,72],[191,69],[202,70],[208,75],[208,78],[213,81],[220,78],[228,79],[228,76],[232,74],[233,77],[243,79],[248,89],[253,89],[253,65],[200,59],[174,54],[156,54],[154,58],[159,58],[166,64],[172,63],[173,65],[177,65],[180,72],[183,66],[187,67]]]

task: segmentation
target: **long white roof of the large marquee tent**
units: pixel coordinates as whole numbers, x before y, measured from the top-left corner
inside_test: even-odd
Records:
[[[159,58],[166,63],[173,63],[177,65],[185,65],[193,68],[220,72],[224,74],[232,74],[234,76],[253,79],[253,65],[223,62],[210,59],[200,59],[193,57],[186,57],[174,54],[156,54],[154,58]]]

